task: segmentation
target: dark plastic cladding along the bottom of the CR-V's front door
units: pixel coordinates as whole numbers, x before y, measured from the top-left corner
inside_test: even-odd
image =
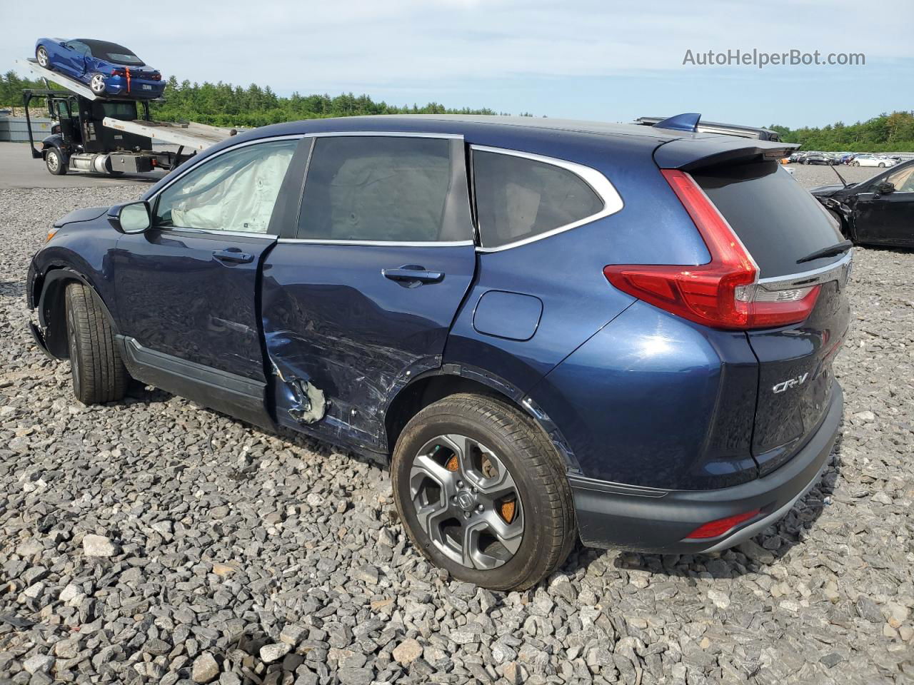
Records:
[[[118,335],[117,339],[124,364],[136,380],[255,426],[276,430],[267,411],[265,383],[156,352],[128,336]]]

